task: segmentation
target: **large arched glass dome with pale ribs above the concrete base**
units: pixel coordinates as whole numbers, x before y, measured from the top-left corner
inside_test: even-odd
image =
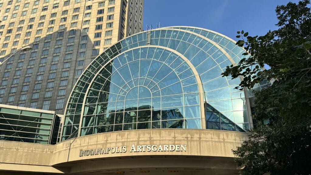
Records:
[[[238,53],[239,52],[239,53]],[[62,140],[101,132],[249,129],[247,91],[221,77],[243,49],[216,32],[170,27],[132,35],[100,54],[68,100]]]

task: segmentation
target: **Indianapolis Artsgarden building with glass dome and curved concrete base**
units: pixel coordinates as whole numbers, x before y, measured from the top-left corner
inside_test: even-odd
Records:
[[[197,27],[128,36],[77,80],[59,143],[0,140],[0,174],[238,174],[243,166],[232,149],[253,126],[251,94],[234,89],[242,77],[221,73],[244,53],[227,36]],[[0,114],[18,121],[12,111],[0,105]]]

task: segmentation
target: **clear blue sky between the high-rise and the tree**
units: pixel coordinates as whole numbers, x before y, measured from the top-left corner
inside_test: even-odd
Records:
[[[196,26],[210,29],[237,40],[236,31],[264,35],[277,29],[275,8],[289,0],[145,0],[146,25]],[[291,2],[298,2],[292,0]]]

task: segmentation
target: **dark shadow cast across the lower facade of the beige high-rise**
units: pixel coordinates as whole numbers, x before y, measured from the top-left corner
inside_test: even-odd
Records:
[[[47,110],[55,110],[56,113],[63,114],[75,78],[79,78],[79,73],[82,73],[83,69],[91,63],[92,51],[90,48],[93,43],[88,34],[81,33],[79,29],[67,30],[64,28],[41,36],[41,38],[35,35],[35,31],[28,32],[31,32],[30,35],[27,34],[29,36],[26,36],[26,33],[21,33],[19,39],[14,39],[19,34],[11,35],[14,41],[20,43],[23,43],[25,39],[34,40],[34,42],[28,45],[19,45],[16,50],[25,46],[31,46],[32,50],[18,52],[2,64],[0,68],[0,103],[30,107],[32,102],[37,102],[35,108],[43,109],[44,101],[50,101]],[[87,48],[89,49],[87,50]],[[6,50],[6,53],[8,52],[10,50]],[[0,58],[0,61],[7,59],[10,55],[12,54]],[[93,57],[95,56],[97,55]],[[80,60],[84,61],[78,65],[77,61]],[[67,80],[67,85],[60,84],[61,80]],[[27,85],[28,88],[26,88]],[[11,91],[12,87],[13,91]],[[65,95],[58,94],[61,89],[66,89]],[[49,96],[45,95],[47,91],[49,91]],[[64,99],[63,108],[58,110],[56,110],[57,99]]]

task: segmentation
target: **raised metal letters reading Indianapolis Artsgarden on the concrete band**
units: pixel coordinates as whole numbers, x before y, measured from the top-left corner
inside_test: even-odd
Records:
[[[187,145],[179,144],[163,144],[163,145],[135,145],[132,144],[129,152],[166,152],[166,151],[186,151]],[[98,149],[80,149],[79,157],[98,155],[98,154],[115,154],[115,153],[126,153],[128,151],[126,146],[118,147],[107,147]]]

